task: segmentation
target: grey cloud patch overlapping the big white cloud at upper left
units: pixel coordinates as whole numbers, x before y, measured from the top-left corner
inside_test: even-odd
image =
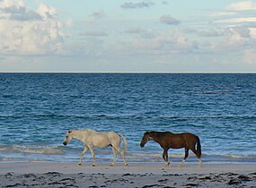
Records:
[[[40,21],[42,17],[39,13],[28,11],[25,7],[10,6],[0,8],[0,13],[7,15],[9,20],[14,21]],[[4,17],[6,19],[6,17]]]

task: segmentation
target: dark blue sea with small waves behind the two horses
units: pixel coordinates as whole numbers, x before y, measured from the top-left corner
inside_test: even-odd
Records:
[[[128,162],[163,162],[157,143],[139,143],[146,131],[171,131],[197,134],[203,163],[255,163],[256,74],[0,73],[1,162],[78,163],[84,144],[62,141],[85,128],[122,133]],[[95,154],[111,162],[110,148]],[[171,162],[183,155],[169,150]],[[190,152],[187,162],[198,160]]]

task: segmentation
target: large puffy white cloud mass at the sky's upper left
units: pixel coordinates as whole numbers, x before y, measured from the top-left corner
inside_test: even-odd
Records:
[[[63,53],[64,24],[57,21],[55,8],[40,4],[38,12],[24,1],[0,1],[0,50],[12,55],[47,55]]]

